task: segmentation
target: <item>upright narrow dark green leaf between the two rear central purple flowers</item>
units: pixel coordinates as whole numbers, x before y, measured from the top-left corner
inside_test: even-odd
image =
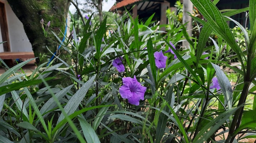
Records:
[[[150,68],[151,68],[151,71],[152,71],[152,75],[153,75],[153,78],[155,80],[155,83],[157,83],[156,82],[156,79],[157,79],[157,68],[155,66],[155,57],[154,57],[153,43],[152,43],[151,38],[148,39],[147,50],[148,50],[148,61],[150,63]]]

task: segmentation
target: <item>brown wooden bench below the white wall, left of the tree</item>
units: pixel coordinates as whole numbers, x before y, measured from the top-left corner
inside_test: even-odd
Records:
[[[0,52],[2,59],[34,58],[34,52]]]

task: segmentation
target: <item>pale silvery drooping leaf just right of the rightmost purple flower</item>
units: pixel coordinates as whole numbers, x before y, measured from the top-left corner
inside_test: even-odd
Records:
[[[224,101],[225,101],[224,105],[227,105],[230,110],[232,108],[232,102],[233,102],[233,91],[232,91],[232,87],[229,82],[229,79],[227,78],[227,76],[224,74],[224,72],[220,69],[218,65],[215,65],[213,63],[211,63],[211,65],[216,71],[218,83],[224,95]]]

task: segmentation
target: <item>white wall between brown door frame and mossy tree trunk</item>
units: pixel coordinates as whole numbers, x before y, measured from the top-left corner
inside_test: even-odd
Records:
[[[6,0],[0,0],[4,2],[5,11],[7,16],[9,40],[11,52],[33,52],[31,43],[27,38],[23,24],[18,17],[13,13],[10,5]],[[40,23],[38,22],[38,25]]]

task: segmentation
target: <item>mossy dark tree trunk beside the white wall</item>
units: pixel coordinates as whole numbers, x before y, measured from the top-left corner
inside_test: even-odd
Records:
[[[32,45],[35,57],[40,57],[40,54],[47,55],[48,58],[37,58],[36,63],[44,63],[52,54],[47,50],[49,48],[53,53],[56,51],[60,43],[56,37],[48,30],[47,37],[44,36],[40,20],[43,18],[45,25],[51,21],[49,29],[58,35],[60,39],[66,25],[67,12],[70,6],[69,0],[7,0],[16,14],[18,19],[22,22],[27,37]],[[64,50],[61,50],[61,58],[65,60]]]

